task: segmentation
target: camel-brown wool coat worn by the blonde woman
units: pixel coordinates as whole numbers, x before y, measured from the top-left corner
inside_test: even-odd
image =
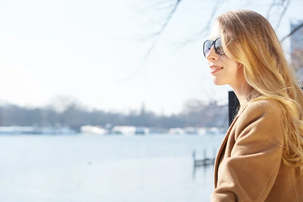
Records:
[[[239,111],[216,158],[211,201],[303,201],[303,177],[281,162],[281,115],[273,100]]]

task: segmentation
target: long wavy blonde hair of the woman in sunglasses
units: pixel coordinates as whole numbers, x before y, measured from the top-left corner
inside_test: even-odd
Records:
[[[242,64],[246,81],[261,94],[250,102],[274,99],[283,109],[282,162],[303,174],[303,93],[274,29],[248,10],[226,12],[217,22],[226,56]]]

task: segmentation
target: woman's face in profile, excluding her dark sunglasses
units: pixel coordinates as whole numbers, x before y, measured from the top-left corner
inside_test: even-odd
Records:
[[[210,40],[215,40],[220,36],[220,28],[218,23],[215,23],[212,31]],[[232,88],[237,88],[239,85],[243,84],[245,81],[243,68],[236,61],[228,58],[226,55],[218,55],[215,52],[214,45],[212,46],[209,54],[206,56],[209,66],[210,72],[213,75],[213,81],[216,85],[224,85],[228,84]],[[222,68],[217,69],[215,68]]]

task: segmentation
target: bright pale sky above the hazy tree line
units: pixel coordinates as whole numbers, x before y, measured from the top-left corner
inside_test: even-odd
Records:
[[[221,0],[215,14],[249,9],[266,16],[272,1]],[[0,100],[42,107],[56,97],[83,106],[128,113],[176,114],[188,100],[228,102],[229,86],[215,86],[203,42],[215,1],[181,1],[164,32],[172,0],[4,0],[0,3]],[[161,8],[158,9],[158,6]],[[292,0],[290,21],[303,19],[303,1]],[[269,21],[275,27],[278,16]],[[156,46],[144,60],[148,48]],[[189,41],[184,43],[184,41]],[[283,47],[287,50],[289,42]]]

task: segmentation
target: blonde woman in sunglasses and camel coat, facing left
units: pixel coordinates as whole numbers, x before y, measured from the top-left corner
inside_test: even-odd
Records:
[[[303,93],[270,23],[224,13],[204,55],[214,83],[230,85],[241,106],[216,158],[211,201],[303,201]]]

